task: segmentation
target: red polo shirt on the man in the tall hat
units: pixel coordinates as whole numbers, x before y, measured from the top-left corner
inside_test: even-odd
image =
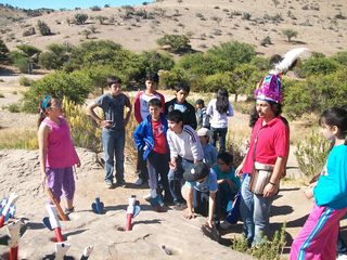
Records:
[[[285,158],[288,153],[290,129],[275,117],[262,126],[264,118],[259,118],[253,128],[250,146],[243,167],[244,173],[252,173],[254,166],[254,152],[256,145],[255,160],[260,164],[274,165],[278,157]]]

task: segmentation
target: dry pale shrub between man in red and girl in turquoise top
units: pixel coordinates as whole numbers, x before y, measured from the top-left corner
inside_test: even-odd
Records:
[[[320,133],[311,133],[298,142],[295,157],[299,171],[308,179],[319,174],[325,164],[329,150],[329,142]]]

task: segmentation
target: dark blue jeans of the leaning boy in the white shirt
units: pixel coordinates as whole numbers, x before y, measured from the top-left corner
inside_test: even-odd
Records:
[[[181,194],[182,184],[184,183],[183,173],[185,170],[190,170],[194,167],[194,164],[184,158],[178,157],[176,161],[176,169],[169,170],[168,180],[174,204],[183,203],[184,199]]]

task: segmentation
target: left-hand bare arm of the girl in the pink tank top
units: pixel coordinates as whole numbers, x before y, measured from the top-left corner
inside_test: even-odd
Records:
[[[39,142],[39,160],[40,160],[40,172],[41,172],[41,184],[46,186],[46,159],[48,153],[48,135],[50,132],[49,126],[41,123],[38,130],[38,142]]]

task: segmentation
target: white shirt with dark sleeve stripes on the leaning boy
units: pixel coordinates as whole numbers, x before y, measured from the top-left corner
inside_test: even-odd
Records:
[[[167,142],[170,147],[170,157],[177,158],[181,156],[188,160],[202,160],[204,152],[200,139],[193,128],[185,125],[182,132],[175,133],[171,130],[167,131]]]

